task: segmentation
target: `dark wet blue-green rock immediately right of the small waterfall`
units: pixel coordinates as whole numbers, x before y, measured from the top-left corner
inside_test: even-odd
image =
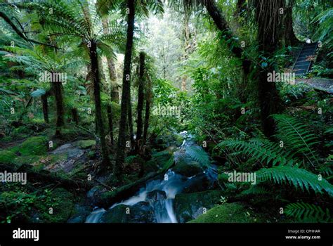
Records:
[[[197,193],[178,194],[174,200],[174,209],[178,222],[184,223],[197,218],[200,214],[218,204],[221,190],[208,190]]]

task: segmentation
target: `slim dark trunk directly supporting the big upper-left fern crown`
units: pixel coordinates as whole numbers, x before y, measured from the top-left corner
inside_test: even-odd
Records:
[[[100,136],[100,147],[102,148],[103,167],[107,167],[107,165],[110,164],[110,161],[108,157],[107,145],[105,141],[105,132],[103,127],[102,106],[100,101],[100,74],[98,70],[98,55],[95,40],[91,40],[89,56],[91,60],[91,75],[93,79],[93,97],[95,99],[96,129],[98,129],[98,133]]]

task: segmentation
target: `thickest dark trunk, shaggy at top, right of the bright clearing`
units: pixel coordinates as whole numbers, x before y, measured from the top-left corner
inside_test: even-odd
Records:
[[[280,37],[280,25],[282,15],[280,8],[284,0],[256,0],[256,21],[258,22],[259,53],[268,58],[273,56],[278,48]],[[280,110],[280,97],[274,82],[268,82],[268,73],[273,73],[273,64],[266,60],[259,63],[259,103],[261,109],[261,124],[263,133],[270,137],[275,132],[274,120],[270,115],[278,113]],[[266,66],[263,64],[268,63]]]

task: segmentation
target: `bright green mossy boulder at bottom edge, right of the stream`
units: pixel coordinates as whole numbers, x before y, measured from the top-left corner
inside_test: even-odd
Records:
[[[252,212],[251,212],[252,213]],[[225,203],[209,209],[189,223],[253,223],[261,222],[240,203]]]

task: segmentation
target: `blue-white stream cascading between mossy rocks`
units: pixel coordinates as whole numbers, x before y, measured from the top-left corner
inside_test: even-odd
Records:
[[[197,146],[192,141],[192,136],[187,136],[187,132],[181,132],[181,136],[184,137],[183,144],[179,148],[185,146]],[[176,155],[175,155],[176,156]],[[177,163],[176,157],[175,162]],[[155,223],[177,223],[176,214],[174,212],[174,198],[178,193],[181,193],[185,186],[189,186],[191,183],[200,182],[202,176],[207,176],[209,180],[216,180],[216,166],[211,165],[202,174],[197,174],[192,177],[185,177],[180,174],[174,173],[169,169],[164,174],[164,179],[155,179],[148,181],[145,187],[138,190],[136,195],[119,203],[112,205],[110,209],[113,209],[117,205],[138,205],[139,202],[148,202],[154,213]],[[103,214],[107,212],[105,209],[96,208],[86,218],[86,223],[99,223]]]

